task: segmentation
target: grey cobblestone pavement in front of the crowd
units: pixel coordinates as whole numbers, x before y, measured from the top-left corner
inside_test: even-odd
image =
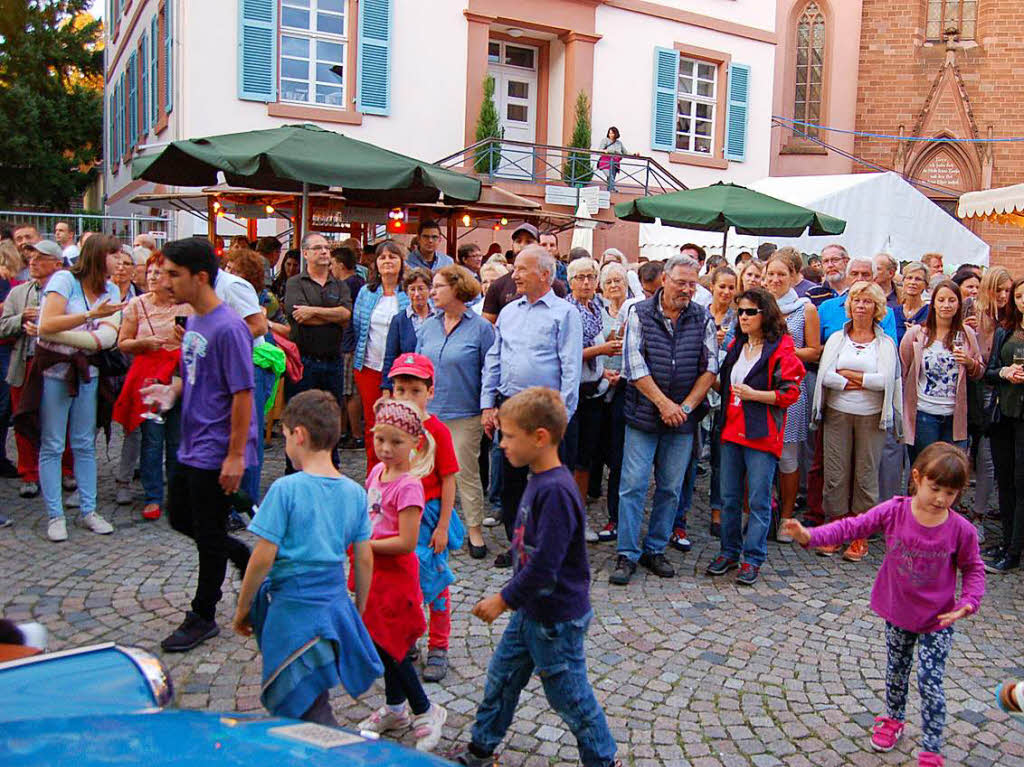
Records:
[[[117,436],[109,453],[98,449],[100,510],[117,528],[111,537],[70,525],[71,540],[51,544],[42,502],[18,499],[14,480],[0,482],[0,511],[14,519],[13,527],[0,530],[0,610],[45,624],[52,649],[117,641],[159,653],[160,640],[180,622],[191,596],[191,543],[166,519],[143,521],[140,503],[114,506],[111,470],[118,449]],[[361,454],[344,456],[349,474],[361,477]],[[283,460],[279,438],[265,476],[280,475]],[[707,486],[699,488],[707,498]],[[603,504],[591,514],[595,525],[605,521]],[[898,750],[878,755],[868,743],[872,719],[883,711],[885,681],[883,626],[867,607],[882,544],[872,543],[864,562],[850,564],[771,543],[761,581],[744,589],[731,577],[702,574],[717,552],[707,535],[706,505],[698,504],[691,524],[693,550],[670,552],[678,570],[671,580],[641,569],[628,588],[609,587],[613,547],[590,548],[590,677],[620,755],[638,767],[915,764],[921,726],[914,684]],[[493,553],[499,529],[487,531]],[[452,671],[441,684],[427,685],[431,697],[449,709],[442,750],[468,737],[487,661],[507,622],[488,627],[469,614],[477,599],[500,588],[507,571],[465,553],[454,558],[454,568],[459,582],[452,589]],[[226,626],[239,583],[231,573],[225,584],[219,637],[191,652],[163,656],[177,706],[260,708],[255,642]],[[1000,680],[1024,678],[1022,608],[1021,576],[991,577],[981,612],[957,624],[946,678],[948,764],[1024,765],[1024,730],[993,707]],[[339,720],[349,724],[382,701],[382,683],[359,701],[343,692],[333,699]],[[500,759],[503,765],[577,762],[574,740],[548,708],[536,678]]]

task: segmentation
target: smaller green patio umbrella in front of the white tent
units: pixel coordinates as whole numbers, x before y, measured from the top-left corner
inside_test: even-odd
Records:
[[[846,229],[841,218],[722,182],[618,203],[615,216],[641,223],[659,218],[666,226],[721,231],[726,238],[730,227],[739,235],[778,237],[799,237],[807,229],[809,235],[841,235]]]

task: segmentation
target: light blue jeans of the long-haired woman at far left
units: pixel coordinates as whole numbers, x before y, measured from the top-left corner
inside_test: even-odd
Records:
[[[78,396],[68,392],[59,378],[43,377],[39,406],[39,486],[50,519],[63,516],[60,496],[60,456],[65,437],[75,456],[75,479],[82,498],[82,516],[96,510],[96,392],[98,380],[80,381]]]

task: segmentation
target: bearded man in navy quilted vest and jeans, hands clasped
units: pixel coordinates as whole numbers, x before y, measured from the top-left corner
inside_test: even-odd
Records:
[[[705,396],[718,375],[718,340],[708,311],[692,301],[700,264],[670,258],[662,288],[629,312],[623,340],[626,443],[618,493],[618,558],[609,583],[625,586],[637,562],[660,578],[675,569],[665,557],[679,506]],[[650,468],[654,504],[640,544]]]

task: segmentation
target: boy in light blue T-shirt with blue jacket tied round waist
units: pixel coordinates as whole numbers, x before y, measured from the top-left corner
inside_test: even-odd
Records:
[[[282,423],[285,452],[298,471],[270,485],[249,524],[258,541],[232,627],[256,635],[267,711],[337,725],[330,689],[342,684],[357,697],[384,673],[359,617],[373,571],[367,493],[331,461],[341,432],[332,394],[312,389],[292,397]],[[355,605],[345,586],[349,546]]]

